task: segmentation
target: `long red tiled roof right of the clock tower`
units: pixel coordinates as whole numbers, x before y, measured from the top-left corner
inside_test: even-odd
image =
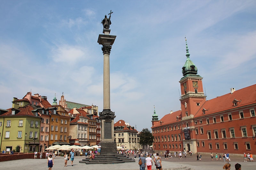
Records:
[[[234,106],[233,101],[238,100],[237,106]],[[239,102],[241,101],[241,102]],[[195,117],[203,115],[203,108],[205,109],[204,115],[209,115],[232,108],[242,107],[249,104],[256,103],[256,84],[249,87],[245,87],[235,92],[225,94],[220,97],[216,97],[211,100],[207,100],[202,107],[197,111]]]

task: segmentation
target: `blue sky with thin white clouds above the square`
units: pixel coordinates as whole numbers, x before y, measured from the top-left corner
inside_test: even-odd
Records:
[[[103,109],[100,23],[110,10],[110,107],[137,130],[180,109],[190,59],[207,100],[256,82],[255,1],[1,1],[0,108],[31,90]]]

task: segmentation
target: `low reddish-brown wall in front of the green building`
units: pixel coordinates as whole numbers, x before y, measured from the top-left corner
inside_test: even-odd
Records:
[[[43,153],[42,159],[45,159],[45,153]],[[15,152],[13,155],[9,153],[1,153],[0,154],[0,162],[8,161],[8,160],[18,160],[18,159],[34,159],[34,153],[17,153]],[[37,153],[36,159],[40,159],[40,152]]]

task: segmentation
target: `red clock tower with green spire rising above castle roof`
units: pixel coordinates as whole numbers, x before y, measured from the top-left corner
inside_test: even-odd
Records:
[[[195,115],[200,106],[206,101],[206,96],[204,95],[202,77],[197,75],[197,67],[190,60],[188,52],[188,44],[186,41],[186,51],[187,51],[187,60],[182,67],[183,77],[180,79],[180,88],[181,88],[181,116],[191,117],[190,115]],[[192,116],[194,117],[194,116]]]

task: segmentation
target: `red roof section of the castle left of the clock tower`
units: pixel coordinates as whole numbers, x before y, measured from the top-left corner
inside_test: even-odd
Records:
[[[177,121],[177,116],[179,116],[178,121]],[[163,125],[166,125],[166,124],[179,122],[180,117],[181,117],[181,110],[178,110],[176,112],[172,112],[171,114],[169,113],[167,115],[164,115],[164,117],[162,117],[162,119],[160,119],[159,122],[157,122],[155,124],[154,128],[157,127],[157,126],[163,126]]]

